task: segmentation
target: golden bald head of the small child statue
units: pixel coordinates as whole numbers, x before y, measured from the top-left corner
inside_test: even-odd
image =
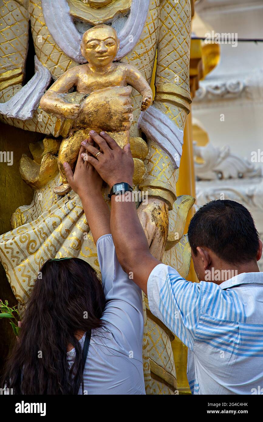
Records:
[[[107,25],[99,25],[83,34],[81,53],[94,66],[106,66],[111,63],[118,49],[117,32]]]

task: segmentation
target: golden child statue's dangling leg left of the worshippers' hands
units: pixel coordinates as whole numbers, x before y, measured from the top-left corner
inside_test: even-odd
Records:
[[[78,158],[79,149],[81,147],[81,141],[84,141],[88,137],[88,131],[77,130],[75,133],[63,139],[60,145],[60,150],[57,157],[57,165],[60,170],[60,176],[62,178],[62,185],[54,187],[54,192],[57,195],[65,195],[70,191],[70,186],[67,181],[67,176],[63,167],[63,162],[68,162],[70,167],[74,168],[76,160]]]

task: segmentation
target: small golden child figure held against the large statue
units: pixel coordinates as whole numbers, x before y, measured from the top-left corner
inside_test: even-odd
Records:
[[[81,53],[87,63],[67,70],[41,98],[40,106],[43,110],[62,119],[70,119],[72,124],[70,135],[63,139],[58,154],[62,177],[62,185],[54,188],[58,195],[65,195],[70,190],[63,162],[74,166],[80,143],[87,138],[89,130],[107,130],[122,147],[129,141],[133,111],[130,103],[131,87],[143,97],[141,111],[152,104],[152,89],[141,73],[127,63],[113,62],[118,49],[119,40],[114,28],[98,25],[87,30],[81,42]],[[73,87],[76,87],[76,92],[68,94]],[[123,113],[114,113],[116,89],[118,95],[120,89],[123,91]],[[109,90],[108,101],[103,109],[98,109],[94,94],[100,97],[106,90]],[[91,93],[92,103],[89,101]],[[125,119],[120,119],[121,114]]]

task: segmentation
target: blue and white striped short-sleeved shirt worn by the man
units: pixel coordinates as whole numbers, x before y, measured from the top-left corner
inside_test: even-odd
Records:
[[[193,394],[263,394],[263,273],[192,283],[159,264],[147,293],[151,312],[188,347]]]

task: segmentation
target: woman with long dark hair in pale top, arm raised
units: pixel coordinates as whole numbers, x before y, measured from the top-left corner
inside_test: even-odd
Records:
[[[5,367],[13,394],[145,394],[141,290],[119,265],[102,180],[83,152],[71,187],[97,244],[102,284],[84,260],[45,262]]]

